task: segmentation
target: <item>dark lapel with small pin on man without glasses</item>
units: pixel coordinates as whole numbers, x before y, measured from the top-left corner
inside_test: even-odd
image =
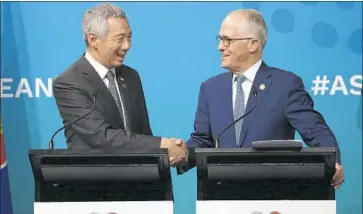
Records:
[[[130,109],[130,93],[129,93],[129,86],[126,84],[126,79],[125,76],[123,75],[123,67],[116,69],[116,80],[117,80],[117,84],[119,86],[119,90],[120,90],[120,94],[121,94],[121,99],[122,99],[122,104],[123,104],[123,108],[124,108],[124,112],[125,112],[125,117],[124,120],[126,121],[127,124],[127,130],[131,131],[131,120],[129,118],[131,118],[131,109]]]

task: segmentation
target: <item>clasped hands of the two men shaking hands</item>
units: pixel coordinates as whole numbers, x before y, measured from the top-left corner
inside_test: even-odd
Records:
[[[188,149],[181,139],[161,138],[160,148],[168,149],[169,162],[173,167],[188,160]]]

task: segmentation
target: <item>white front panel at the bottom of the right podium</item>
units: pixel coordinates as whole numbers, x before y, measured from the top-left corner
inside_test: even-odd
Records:
[[[197,201],[196,214],[336,214],[335,200]]]

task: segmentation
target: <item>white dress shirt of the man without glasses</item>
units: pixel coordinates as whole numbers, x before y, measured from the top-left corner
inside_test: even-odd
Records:
[[[122,102],[122,98],[121,98],[121,93],[120,93],[120,89],[118,87],[118,83],[117,83],[117,80],[116,80],[116,70],[115,68],[111,68],[111,69],[108,69],[106,68],[105,66],[103,66],[101,63],[99,63],[98,61],[96,61],[88,52],[86,52],[85,56],[84,56],[88,62],[92,65],[92,67],[96,70],[96,72],[98,73],[98,75],[100,75],[101,79],[103,80],[103,82],[105,83],[106,87],[108,88],[108,84],[109,84],[109,81],[106,77],[106,74],[107,72],[110,70],[111,72],[113,72],[113,75],[114,75],[114,81],[115,81],[115,84],[116,84],[116,89],[117,89],[117,94],[119,96],[119,99],[120,99],[120,102],[121,102],[121,106],[122,106],[122,115],[123,115],[123,118],[125,120],[125,110],[124,110],[124,104]],[[125,128],[126,128],[126,121],[124,121],[124,125],[125,125]]]

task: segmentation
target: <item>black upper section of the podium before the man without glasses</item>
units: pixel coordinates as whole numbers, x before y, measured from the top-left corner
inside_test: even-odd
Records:
[[[166,149],[31,150],[29,158],[35,202],[173,201]]]

